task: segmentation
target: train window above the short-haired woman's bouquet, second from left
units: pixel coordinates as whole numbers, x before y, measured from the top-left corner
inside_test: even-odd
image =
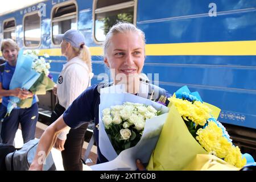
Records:
[[[37,47],[41,40],[40,17],[38,13],[24,17],[24,45]]]

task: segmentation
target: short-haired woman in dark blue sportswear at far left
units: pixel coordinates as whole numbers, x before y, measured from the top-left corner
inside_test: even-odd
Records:
[[[9,89],[19,52],[19,47],[16,42],[12,39],[3,39],[1,51],[7,61],[5,64],[1,65],[3,69],[0,73],[0,96],[2,96],[0,119],[3,121],[1,129],[2,143],[14,144],[14,138],[19,123],[21,125],[23,142],[26,143],[35,138],[36,122],[38,121],[38,104],[36,103],[35,95],[28,90],[22,88]],[[11,111],[9,117],[5,117],[9,96],[16,96],[20,99],[33,97],[32,106],[25,109],[16,107]]]

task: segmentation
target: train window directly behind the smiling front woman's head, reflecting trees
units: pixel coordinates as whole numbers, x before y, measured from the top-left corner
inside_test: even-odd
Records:
[[[109,29],[118,21],[134,23],[135,1],[94,0],[94,39],[96,42],[104,42]]]

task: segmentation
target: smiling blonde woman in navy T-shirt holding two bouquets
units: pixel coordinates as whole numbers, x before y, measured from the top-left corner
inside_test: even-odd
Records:
[[[115,24],[108,34],[104,42],[104,63],[112,73],[114,85],[119,84],[119,76],[125,75],[127,77],[126,89],[131,94],[141,96],[139,91],[140,84],[139,76],[141,75],[145,60],[145,37],[144,32],[139,30],[131,23],[118,23]],[[132,78],[130,80],[130,78]],[[104,84],[105,85],[105,84]],[[158,101],[160,97],[170,97],[171,94],[166,90],[159,88],[155,85],[148,85],[158,92],[156,96],[151,94],[154,98],[152,100]],[[98,120],[99,120],[99,105],[100,105],[100,92],[102,83],[90,86],[86,89],[75,101],[68,107],[64,114],[58,118],[52,125],[48,126],[40,138],[35,158],[31,163],[30,170],[42,170],[43,164],[40,161],[42,156],[39,155],[42,151],[49,154],[53,144],[55,143],[57,135],[67,129],[68,127],[77,128],[86,122],[94,120],[96,129],[94,130],[94,137],[98,146]],[[146,98],[151,97],[148,93]],[[164,103],[168,105],[168,100]],[[108,162],[101,150],[97,147],[98,159],[97,163]],[[139,160],[137,162],[139,163]],[[143,168],[142,165],[138,168]]]

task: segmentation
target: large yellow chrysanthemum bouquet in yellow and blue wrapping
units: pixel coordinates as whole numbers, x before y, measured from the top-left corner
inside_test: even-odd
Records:
[[[183,86],[168,98],[170,111],[148,170],[239,170],[246,164],[225,127],[220,109]]]

